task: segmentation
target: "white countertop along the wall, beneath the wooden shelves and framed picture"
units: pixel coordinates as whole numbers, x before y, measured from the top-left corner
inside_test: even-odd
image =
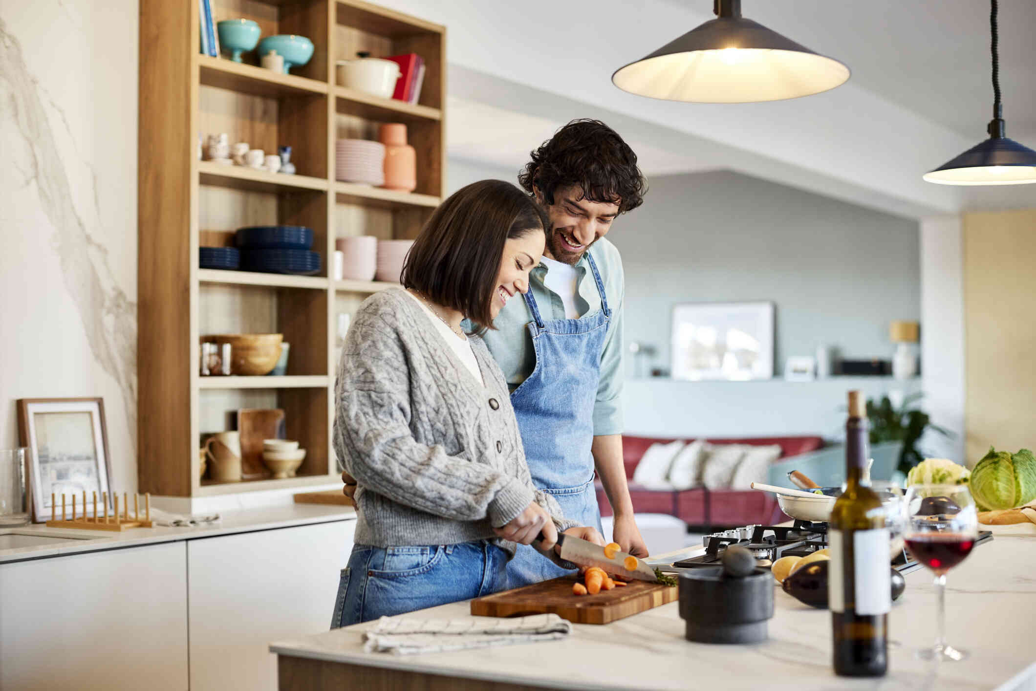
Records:
[[[65,556],[67,554],[103,549],[136,547],[161,542],[214,538],[221,535],[269,530],[294,525],[354,520],[355,517],[356,512],[351,507],[288,503],[260,509],[221,512],[218,523],[205,523],[192,527],[155,525],[149,528],[130,528],[121,532],[52,528],[41,523],[4,527],[0,529],[0,538],[4,537],[3,534],[15,532],[33,537],[74,538],[74,540],[61,540],[55,541],[53,544],[0,549],[0,564],[50,556]]]

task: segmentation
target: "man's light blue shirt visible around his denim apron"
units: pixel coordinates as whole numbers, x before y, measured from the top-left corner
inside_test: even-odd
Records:
[[[611,309],[611,321],[605,336],[601,352],[601,379],[598,382],[597,398],[594,403],[594,435],[622,434],[623,406],[623,303],[626,297],[626,281],[623,276],[623,261],[615,246],[602,237],[588,252],[593,253],[597,269],[604,283],[604,293]],[[579,318],[594,314],[601,309],[601,295],[594,282],[586,256],[575,266],[576,309]],[[547,267],[538,265],[529,275],[529,289],[536,297],[537,306],[544,319],[565,319],[565,305],[560,296],[544,285]],[[503,370],[503,377],[511,391],[533,373],[536,367],[536,350],[533,337],[526,324],[533,321],[533,314],[521,295],[515,295],[500,310],[493,320],[494,329],[482,337],[493,358]]]

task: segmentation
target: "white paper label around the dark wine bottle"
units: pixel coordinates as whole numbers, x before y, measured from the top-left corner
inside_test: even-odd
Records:
[[[847,549],[852,541],[852,549]],[[889,531],[828,532],[828,606],[833,612],[887,614],[892,609]]]

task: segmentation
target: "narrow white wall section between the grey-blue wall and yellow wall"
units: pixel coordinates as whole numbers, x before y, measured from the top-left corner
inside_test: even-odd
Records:
[[[952,431],[928,434],[933,455],[965,460],[965,308],[959,217],[921,221],[921,362],[924,409],[931,422]],[[974,460],[974,459],[973,459]]]

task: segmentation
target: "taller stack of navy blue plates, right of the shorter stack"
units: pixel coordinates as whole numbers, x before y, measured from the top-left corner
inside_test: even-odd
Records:
[[[241,268],[264,273],[320,272],[320,254],[311,252],[313,230],[306,226],[238,228],[234,242],[241,251]]]

